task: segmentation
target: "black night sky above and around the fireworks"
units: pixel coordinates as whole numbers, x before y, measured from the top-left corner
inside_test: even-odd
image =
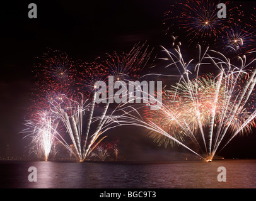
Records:
[[[74,60],[92,61],[106,52],[127,52],[139,41],[148,41],[155,52],[160,45],[168,47],[171,43],[163,34],[163,13],[171,0],[33,1],[38,8],[37,19],[28,18],[30,3],[1,3],[0,156],[6,155],[7,146],[12,156],[23,155],[26,141],[19,132],[24,129],[31,104],[29,94],[35,84],[32,67],[47,48],[66,52]],[[247,4],[255,6],[252,1]],[[186,41],[182,44],[183,48],[187,45]],[[188,55],[193,52],[187,51]],[[127,159],[168,160],[179,154],[183,157],[183,153],[190,155],[181,148],[158,147],[143,129],[127,133],[127,128],[118,128],[112,132],[115,136],[120,133]],[[221,156],[256,158],[255,134],[236,137]]]

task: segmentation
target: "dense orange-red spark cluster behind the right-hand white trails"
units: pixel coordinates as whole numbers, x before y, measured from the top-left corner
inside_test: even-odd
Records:
[[[186,124],[192,133],[196,133],[199,128],[198,122],[201,122],[203,126],[208,124],[211,112],[214,110],[213,94],[216,91],[217,84],[211,74],[192,80],[189,87],[187,83],[180,82],[172,86],[171,89],[164,91],[163,104],[168,108],[168,111],[172,111],[172,114],[168,114],[168,112],[149,111],[147,109],[144,115],[146,121],[154,122],[154,124],[160,126],[179,141],[184,140],[185,133],[182,131],[181,124],[177,123],[177,119],[186,119]],[[197,107],[201,114],[200,121],[197,121],[197,116],[194,114],[193,107],[191,107],[193,104],[193,100],[190,97],[191,92],[197,94]],[[223,99],[224,90],[221,87],[218,101],[222,103],[224,101]],[[219,111],[221,111],[221,104],[218,104],[216,107],[216,112]],[[150,136],[160,145],[165,144],[167,146],[168,144],[172,144],[174,146],[177,144],[170,138],[166,138],[155,132],[150,132]]]

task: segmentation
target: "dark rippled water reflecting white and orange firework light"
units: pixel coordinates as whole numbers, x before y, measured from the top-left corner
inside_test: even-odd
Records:
[[[29,182],[30,166],[37,182]],[[226,182],[218,181],[218,167]],[[171,163],[0,161],[1,188],[256,188],[256,160]]]

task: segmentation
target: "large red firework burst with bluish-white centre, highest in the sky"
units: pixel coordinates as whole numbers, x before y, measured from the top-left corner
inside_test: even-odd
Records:
[[[194,1],[187,0],[183,3],[172,4],[171,10],[165,13],[165,21],[174,21],[178,24],[178,29],[172,24],[166,32],[175,33],[173,30],[186,31],[190,43],[200,43],[201,45],[209,45],[209,41],[216,41],[219,33],[223,28],[230,23],[233,23],[234,13],[241,13],[237,11],[237,7],[228,6],[226,2],[226,18],[218,18],[218,4],[219,1]],[[175,14],[177,11],[181,13]],[[236,10],[236,12],[235,12]],[[236,18],[238,19],[238,18]]]

